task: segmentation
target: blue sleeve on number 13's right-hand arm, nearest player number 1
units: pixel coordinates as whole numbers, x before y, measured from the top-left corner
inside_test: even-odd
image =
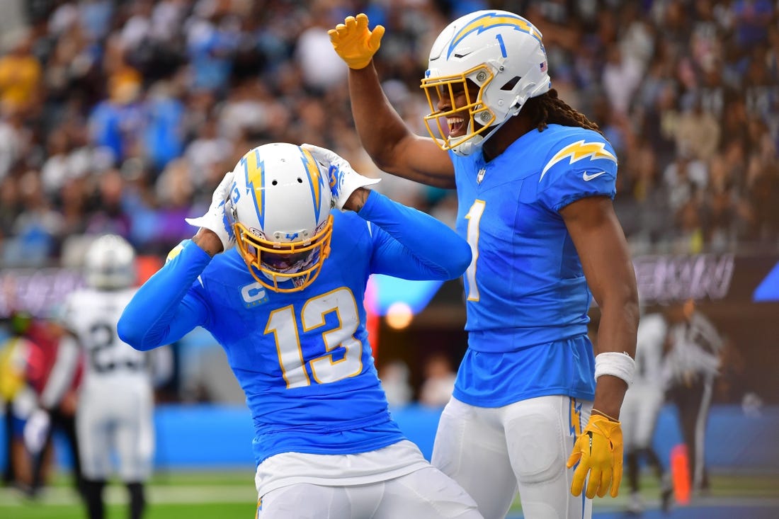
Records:
[[[410,280],[448,280],[471,263],[471,245],[429,214],[372,191],[358,215],[370,222],[371,271]]]

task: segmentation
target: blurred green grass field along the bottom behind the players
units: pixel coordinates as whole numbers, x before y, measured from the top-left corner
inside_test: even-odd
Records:
[[[714,475],[710,500],[770,500],[779,506],[779,475]],[[624,485],[616,499],[596,500],[594,510],[622,510],[627,503]],[[657,502],[659,489],[654,478],[642,481],[642,494],[650,506]],[[106,491],[107,519],[126,517],[125,489],[111,483]],[[153,477],[147,493],[145,519],[213,519],[255,514],[256,493],[251,471],[164,472]],[[509,517],[521,517],[518,504]],[[32,501],[15,489],[0,489],[0,517],[3,519],[83,519],[86,513],[65,475],[56,475],[40,499]]]

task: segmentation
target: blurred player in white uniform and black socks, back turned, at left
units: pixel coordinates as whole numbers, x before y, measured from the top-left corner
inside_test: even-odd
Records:
[[[154,372],[164,370],[160,362],[152,365],[157,356],[152,359],[133,349],[116,333],[119,316],[136,291],[132,246],[118,235],[100,236],[87,249],[84,267],[87,287],[65,300],[57,360],[41,396],[41,410],[25,436],[35,452],[37,439],[48,428],[45,409],[65,393],[83,358],[76,431],[89,517],[104,517],[103,491],[115,455],[118,477],[129,491],[129,517],[139,519],[145,508],[143,482],[152,468]]]

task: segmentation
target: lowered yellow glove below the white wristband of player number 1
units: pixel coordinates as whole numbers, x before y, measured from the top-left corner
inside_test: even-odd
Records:
[[[568,458],[568,468],[576,462],[579,466],[573,471],[571,493],[580,495],[587,472],[587,499],[606,495],[611,485],[612,497],[619,493],[619,482],[622,481],[622,429],[619,422],[612,422],[605,416],[590,415],[590,422],[584,428],[581,436],[576,438],[573,452]]]

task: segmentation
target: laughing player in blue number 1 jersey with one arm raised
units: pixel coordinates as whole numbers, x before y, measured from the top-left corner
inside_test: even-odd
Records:
[[[383,171],[456,188],[456,228],[473,250],[468,349],[433,464],[488,519],[506,516],[517,489],[526,517],[590,517],[594,496],[619,491],[639,315],[612,207],[615,150],[558,97],[527,19],[485,10],[442,30],[421,80],[429,137],[382,93],[372,56],[383,33],[364,14],[330,30],[361,142]]]

